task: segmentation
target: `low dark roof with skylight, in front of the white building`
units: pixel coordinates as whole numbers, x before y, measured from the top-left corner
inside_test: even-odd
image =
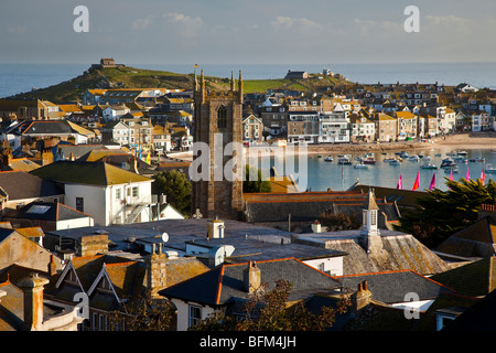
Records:
[[[58,202],[32,202],[21,208],[6,212],[3,217],[57,222],[86,218],[90,217],[90,215]]]

